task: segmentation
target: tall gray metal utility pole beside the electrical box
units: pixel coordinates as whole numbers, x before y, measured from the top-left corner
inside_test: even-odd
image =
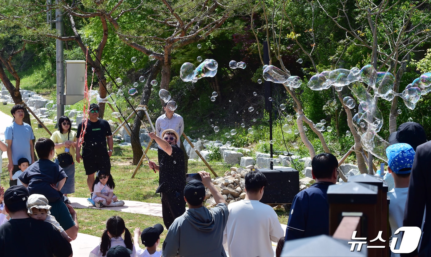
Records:
[[[62,36],[64,34],[63,30],[63,16],[61,10],[58,8],[59,0],[55,1],[56,9],[56,24],[55,28],[58,34]],[[63,41],[56,40],[56,68],[57,68],[57,119],[64,115],[64,104],[62,104],[62,95],[64,94],[64,47]]]

